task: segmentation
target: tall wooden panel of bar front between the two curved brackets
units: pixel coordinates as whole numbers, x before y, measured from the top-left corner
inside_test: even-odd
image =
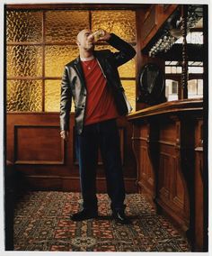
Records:
[[[161,128],[161,127],[160,127]],[[186,231],[190,219],[187,188],[183,186],[181,175],[181,159],[179,150],[174,145],[160,144],[158,169],[158,197],[156,202],[172,216],[175,222],[181,224]]]

